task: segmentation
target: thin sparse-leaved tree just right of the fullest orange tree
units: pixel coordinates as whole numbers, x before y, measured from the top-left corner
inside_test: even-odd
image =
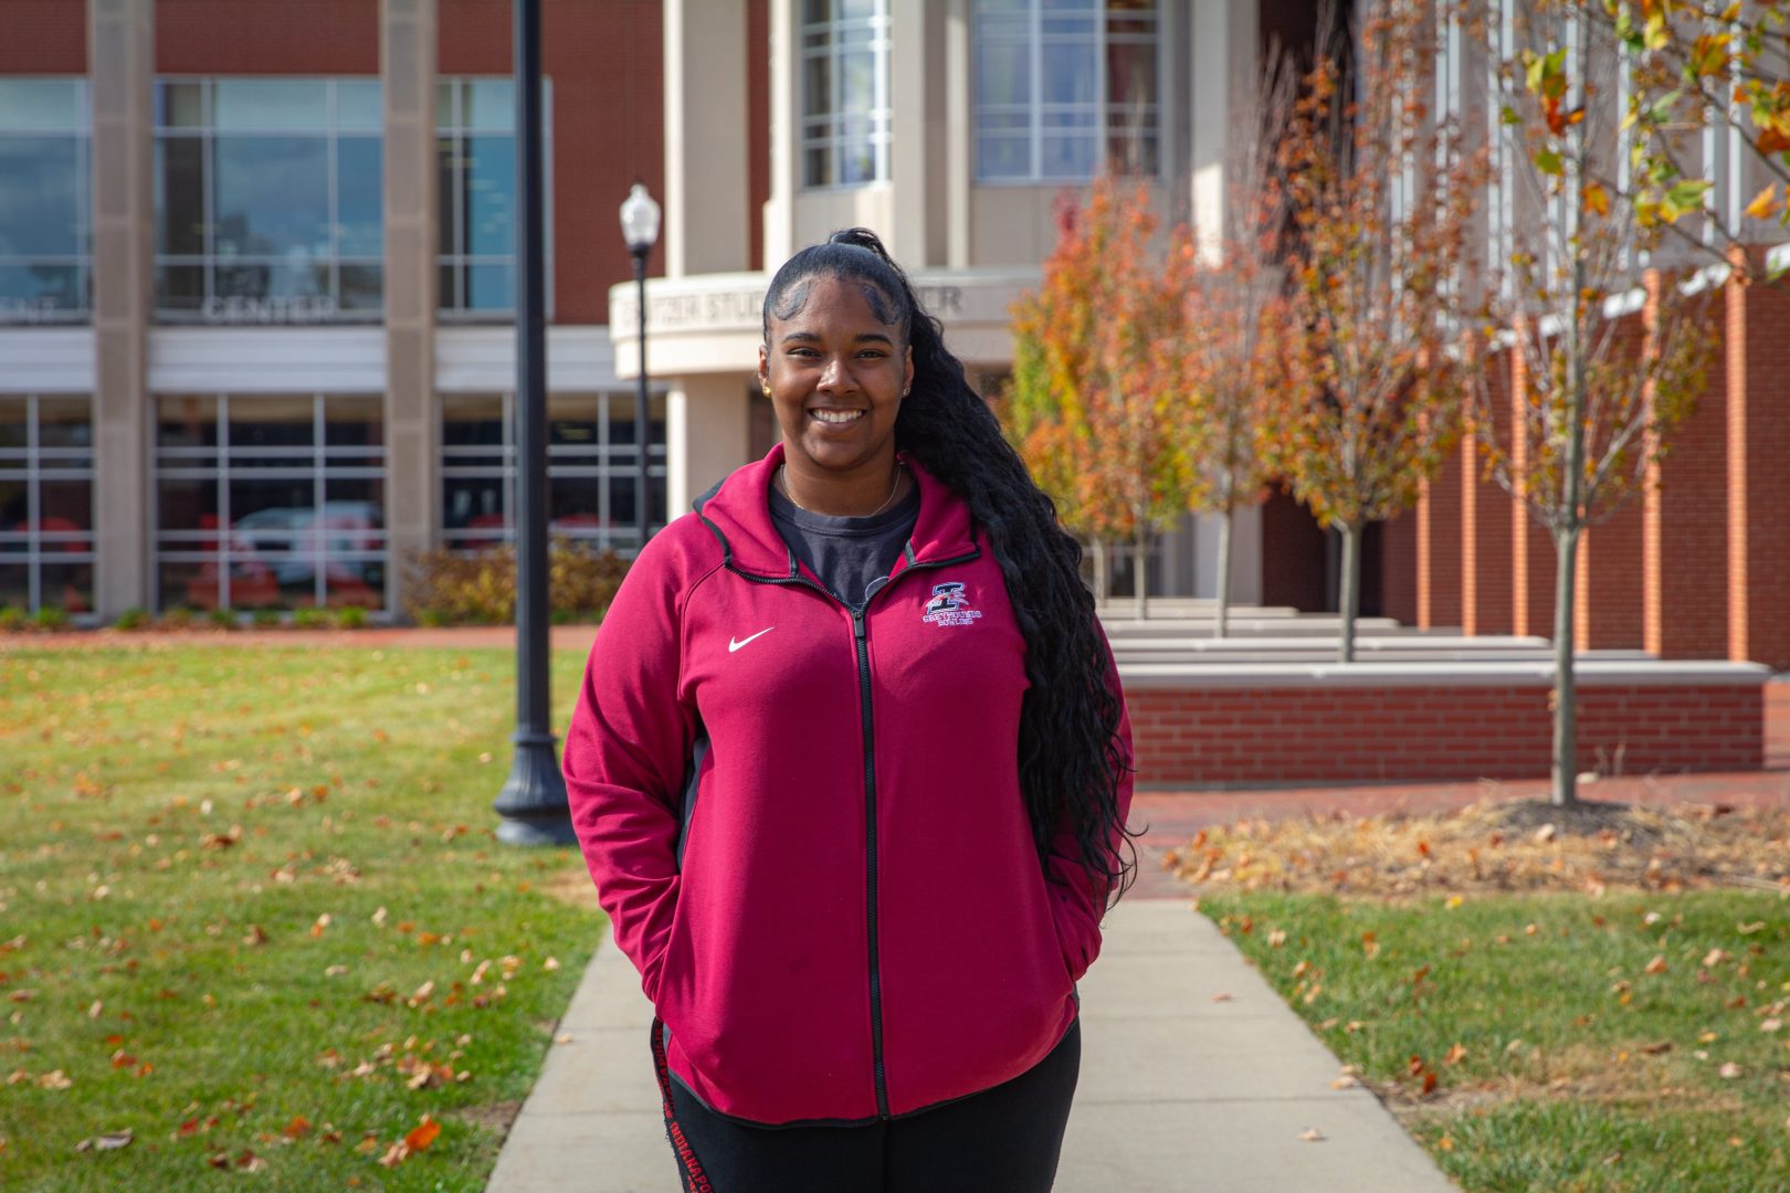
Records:
[[[1194,508],[1219,519],[1219,639],[1230,622],[1237,512],[1262,501],[1276,467],[1267,406],[1282,383],[1280,333],[1287,322],[1287,188],[1278,143],[1292,118],[1296,88],[1292,59],[1274,48],[1260,75],[1233,95],[1224,207],[1187,284],[1183,390],[1192,395],[1189,447],[1201,478]]]

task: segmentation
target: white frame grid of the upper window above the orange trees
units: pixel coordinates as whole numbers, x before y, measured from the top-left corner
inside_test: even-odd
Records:
[[[1081,107],[1087,107],[1087,106],[1083,106],[1083,104],[1047,104],[1047,102],[1044,102],[1042,91],[1040,91],[1040,80],[1044,77],[1044,52],[1045,52],[1045,43],[1047,43],[1047,39],[1053,41],[1053,43],[1067,43],[1070,39],[1070,36],[1069,34],[1045,34],[1045,30],[1044,30],[1045,13],[1044,13],[1044,5],[1042,5],[1040,0],[1022,0],[1022,4],[1026,5],[1024,16],[1026,16],[1026,25],[1027,25],[1026,27],[1024,41],[1020,41],[1017,38],[999,38],[997,41],[1004,43],[1004,45],[1024,45],[1027,48],[1027,64],[1026,64],[1026,68],[1027,68],[1027,75],[1029,75],[1029,88],[1027,88],[1029,89],[1029,97],[1027,97],[1027,100],[1024,104],[984,104],[981,100],[979,93],[977,93],[979,84],[981,84],[981,79],[977,77],[977,57],[979,57],[977,50],[979,50],[979,47],[984,41],[984,34],[981,32],[983,11],[981,11],[979,0],[970,0],[970,55],[968,55],[968,59],[970,59],[970,131],[968,131],[968,140],[970,140],[970,157],[972,157],[970,177],[974,179],[976,186],[992,186],[992,188],[999,188],[999,186],[1074,186],[1074,184],[1090,182],[1092,179],[1099,177],[1106,170],[1106,165],[1112,159],[1110,145],[1112,145],[1112,140],[1115,136],[1113,134],[1113,113],[1115,113],[1115,107],[1113,107],[1113,100],[1112,100],[1112,79],[1110,79],[1108,70],[1106,70],[1108,48],[1112,45],[1142,45],[1142,34],[1124,34],[1122,39],[1115,41],[1113,39],[1113,32],[1112,32],[1112,23],[1119,21],[1119,20],[1138,20],[1138,18],[1146,16],[1146,13],[1140,13],[1140,11],[1135,11],[1135,9],[1112,9],[1108,5],[1108,0],[1097,0],[1097,4],[1092,7],[1092,18],[1095,21],[1095,30],[1092,34],[1092,41],[1094,41],[1094,93],[1095,93],[1095,100],[1092,104],[1092,107],[1094,107],[1094,122],[1092,122],[1090,127],[1092,127],[1092,136],[1097,138],[1099,156],[1097,156],[1097,159],[1094,163],[1094,168],[1088,173],[1049,173],[1049,172],[1044,170],[1044,143],[1045,143],[1047,116],[1058,114],[1058,113],[1061,113],[1065,109],[1081,109]],[[1151,41],[1153,50],[1155,50],[1155,70],[1156,70],[1155,82],[1156,82],[1156,93],[1155,93],[1155,100],[1149,104],[1149,116],[1151,116],[1151,120],[1146,125],[1144,140],[1155,141],[1155,150],[1153,150],[1155,152],[1155,166],[1151,170],[1144,170],[1144,172],[1140,172],[1140,173],[1135,175],[1135,177],[1156,179],[1156,181],[1160,181],[1164,177],[1164,170],[1167,168],[1167,152],[1165,152],[1165,145],[1164,145],[1164,134],[1165,134],[1164,116],[1167,113],[1165,88],[1167,88],[1167,80],[1169,80],[1167,79],[1169,77],[1169,47],[1167,47],[1167,38],[1164,38],[1164,32],[1165,32],[1165,27],[1167,27],[1167,13],[1164,11],[1164,7],[1165,5],[1162,4],[1162,0],[1153,0],[1153,7],[1147,11],[1147,18],[1155,25],[1155,30],[1149,34],[1149,41]],[[999,16],[1008,16],[1008,18],[1011,18],[1011,16],[1019,16],[1019,13],[992,13],[990,16],[997,16],[997,18]],[[981,148],[981,143],[983,143],[983,136],[984,136],[984,129],[983,129],[983,116],[984,114],[997,114],[997,116],[1024,114],[1026,116],[1027,157],[1031,161],[1031,168],[1024,175],[1019,175],[1019,173],[990,175],[990,173],[983,172],[983,148]]]

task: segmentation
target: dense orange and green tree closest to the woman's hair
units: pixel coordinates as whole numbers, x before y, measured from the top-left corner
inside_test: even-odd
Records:
[[[1008,436],[1063,524],[1094,546],[1095,597],[1106,547],[1131,542],[1137,615],[1147,613],[1151,535],[1189,506],[1187,309],[1172,268],[1153,261],[1156,218],[1144,186],[1097,179],[1087,204],[1058,206],[1058,243],[1036,293],[1013,308]],[[1169,261],[1189,259],[1178,231]]]

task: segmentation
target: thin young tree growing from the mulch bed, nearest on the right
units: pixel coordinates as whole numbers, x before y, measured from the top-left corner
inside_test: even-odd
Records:
[[[1595,0],[1593,0],[1595,2]],[[1495,345],[1522,358],[1509,419],[1477,395],[1475,436],[1496,481],[1556,547],[1552,801],[1577,801],[1573,599],[1584,531],[1641,492],[1690,415],[1713,345],[1697,292],[1649,268],[1663,234],[1624,186],[1618,55],[1579,0],[1505,0],[1486,23],[1496,63],[1498,179],[1507,220],[1489,308]],[[1636,313],[1638,311],[1638,313]],[[1640,320],[1640,327],[1636,327]]]

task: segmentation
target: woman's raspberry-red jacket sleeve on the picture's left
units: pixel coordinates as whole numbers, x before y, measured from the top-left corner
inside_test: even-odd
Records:
[[[661,533],[598,630],[566,732],[566,798],[616,944],[657,996],[678,900],[678,792],[695,714],[678,696],[682,583]]]

